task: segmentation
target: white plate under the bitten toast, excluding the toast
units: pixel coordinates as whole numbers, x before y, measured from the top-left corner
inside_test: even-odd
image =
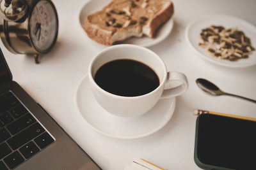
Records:
[[[86,3],[79,14],[79,22],[81,27],[83,28],[84,20],[86,19],[87,15],[94,13],[95,11],[101,10],[109,2],[110,1],[106,1],[106,0],[91,0],[88,3]],[[163,41],[170,34],[170,32],[172,31],[172,28],[173,28],[173,17],[159,28],[154,38],[148,38],[147,36],[143,36],[142,38],[132,37],[120,43],[140,45],[145,47],[153,46]],[[85,31],[84,33],[86,34]]]

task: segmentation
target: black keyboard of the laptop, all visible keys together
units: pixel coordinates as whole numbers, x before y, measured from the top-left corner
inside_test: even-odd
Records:
[[[14,169],[54,142],[20,101],[0,96],[0,169]]]

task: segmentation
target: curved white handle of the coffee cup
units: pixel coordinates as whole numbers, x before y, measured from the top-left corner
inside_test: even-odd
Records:
[[[179,83],[178,86],[175,85],[177,82]],[[186,92],[186,90],[188,90],[188,79],[186,75],[176,71],[169,71],[160,99],[179,96]]]

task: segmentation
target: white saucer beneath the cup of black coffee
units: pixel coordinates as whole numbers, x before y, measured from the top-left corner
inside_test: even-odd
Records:
[[[116,117],[99,106],[93,97],[87,75],[77,88],[76,103],[84,120],[95,131],[120,139],[142,138],[157,132],[167,124],[175,109],[175,97],[173,97],[159,100],[152,110],[140,117]]]

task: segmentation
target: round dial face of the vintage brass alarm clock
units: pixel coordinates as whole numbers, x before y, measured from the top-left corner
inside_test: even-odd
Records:
[[[38,52],[47,52],[54,45],[58,34],[58,17],[54,6],[48,1],[39,1],[33,8],[29,34]]]

